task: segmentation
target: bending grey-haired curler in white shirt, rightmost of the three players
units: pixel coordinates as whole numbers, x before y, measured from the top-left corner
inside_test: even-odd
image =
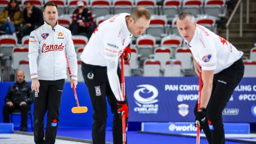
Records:
[[[244,75],[243,52],[221,36],[196,24],[190,12],[177,18],[180,35],[193,54],[195,72],[202,75],[203,88],[199,112],[196,104],[195,126],[203,128],[209,144],[224,144],[222,111]]]

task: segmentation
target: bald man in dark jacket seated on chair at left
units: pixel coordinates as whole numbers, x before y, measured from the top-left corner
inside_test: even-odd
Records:
[[[12,110],[19,109],[21,111],[21,131],[27,131],[28,111],[34,98],[31,85],[24,78],[24,72],[18,71],[16,74],[17,82],[9,87],[3,107],[4,123],[10,122],[9,115]]]

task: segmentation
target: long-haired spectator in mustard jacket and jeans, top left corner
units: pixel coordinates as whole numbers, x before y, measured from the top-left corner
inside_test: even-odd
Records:
[[[0,28],[6,34],[16,36],[16,31],[20,31],[20,24],[23,21],[23,15],[20,11],[17,0],[11,0],[0,15]]]

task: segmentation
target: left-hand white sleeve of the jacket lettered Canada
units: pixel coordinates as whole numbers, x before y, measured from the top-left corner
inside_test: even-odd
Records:
[[[31,79],[36,78],[37,76],[37,57],[39,55],[40,49],[40,37],[36,35],[35,31],[30,33],[29,37],[29,68]]]

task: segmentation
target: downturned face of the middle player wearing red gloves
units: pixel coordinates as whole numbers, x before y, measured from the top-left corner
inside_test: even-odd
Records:
[[[130,17],[128,19],[128,29],[131,31],[133,36],[138,37],[149,27],[149,23],[150,20],[147,20],[145,16],[140,17],[136,22],[132,17]]]

